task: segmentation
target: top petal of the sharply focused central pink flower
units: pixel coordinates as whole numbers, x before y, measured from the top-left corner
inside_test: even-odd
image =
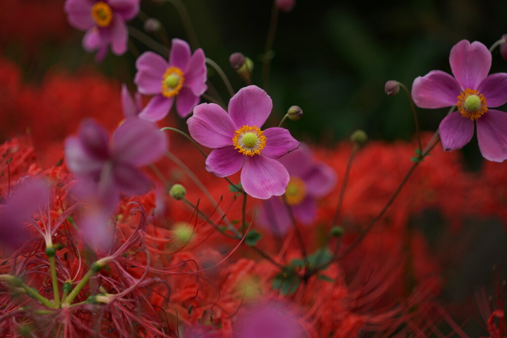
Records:
[[[271,97],[257,86],[241,88],[229,101],[229,115],[237,129],[242,126],[261,128],[272,108]]]

